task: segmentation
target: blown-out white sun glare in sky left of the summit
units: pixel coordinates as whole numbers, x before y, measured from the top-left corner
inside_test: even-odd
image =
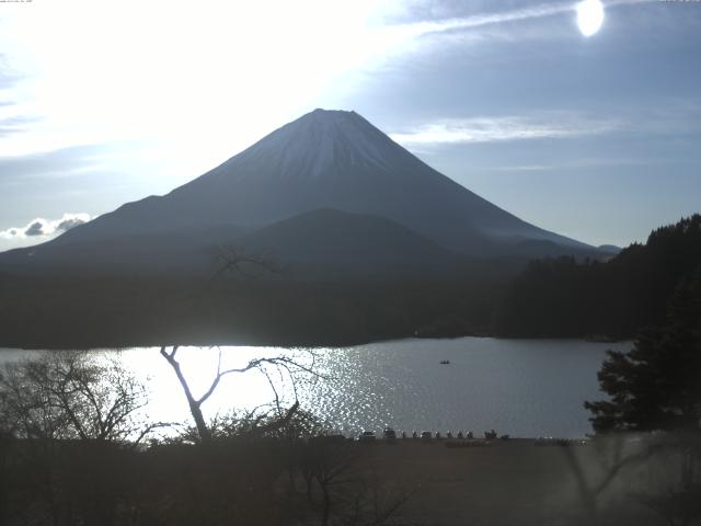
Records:
[[[157,137],[220,161],[365,64],[376,48],[358,43],[376,11],[370,0],[68,0],[13,10],[0,21],[0,46],[12,47],[9,66],[24,79],[23,114],[42,126],[0,155]],[[192,148],[203,130],[207,144]]]

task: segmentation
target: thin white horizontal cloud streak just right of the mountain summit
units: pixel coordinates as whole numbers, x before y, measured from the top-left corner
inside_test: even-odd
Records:
[[[550,113],[541,117],[510,115],[443,119],[405,133],[390,134],[390,137],[404,145],[496,142],[599,135],[619,127],[620,124],[612,119]]]

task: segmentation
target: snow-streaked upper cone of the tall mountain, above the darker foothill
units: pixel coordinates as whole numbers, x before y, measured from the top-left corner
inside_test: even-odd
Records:
[[[531,240],[563,252],[591,249],[492,205],[356,113],[322,110],[168,195],[127,204],[59,242],[204,225],[260,227],[319,208],[384,216],[464,253],[508,252],[509,244]]]

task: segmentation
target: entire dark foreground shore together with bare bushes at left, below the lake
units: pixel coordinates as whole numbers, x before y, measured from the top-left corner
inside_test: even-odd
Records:
[[[176,363],[176,351],[163,347],[162,354]],[[241,369],[217,368],[212,387],[188,397],[195,425],[177,426],[148,415],[143,387],[117,362],[97,356],[51,352],[3,367],[0,524],[701,521],[698,421],[696,427],[673,423],[665,433],[631,433],[660,426],[636,422],[637,413],[619,413],[620,431],[586,444],[452,442],[481,447],[444,447],[448,441],[436,439],[348,441],[330,434],[298,403],[205,423],[207,392],[262,365],[253,359]],[[657,384],[664,380],[657,375]],[[650,392],[639,392],[623,398],[632,407],[654,407]],[[656,403],[669,408],[667,400],[658,393]],[[697,400],[694,411],[700,405]],[[611,422],[611,412],[605,414]]]

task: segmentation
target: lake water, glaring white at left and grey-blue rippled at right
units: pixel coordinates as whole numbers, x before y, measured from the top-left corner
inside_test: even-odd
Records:
[[[627,343],[576,340],[401,340],[344,348],[221,347],[222,369],[249,359],[284,355],[321,376],[280,369],[226,376],[204,405],[206,416],[231,409],[251,410],[274,400],[271,381],[283,402],[295,389],[302,407],[347,435],[361,430],[439,430],[453,433],[496,430],[512,436],[578,437],[590,432],[585,400],[602,398],[597,370],[607,348]],[[158,348],[130,348],[116,355],[147,382],[153,421],[185,421],[184,395]],[[34,352],[0,350],[0,362]],[[182,347],[177,357],[195,396],[205,392],[217,367],[217,348]],[[450,361],[441,365],[441,361]],[[268,378],[271,381],[268,381]]]

